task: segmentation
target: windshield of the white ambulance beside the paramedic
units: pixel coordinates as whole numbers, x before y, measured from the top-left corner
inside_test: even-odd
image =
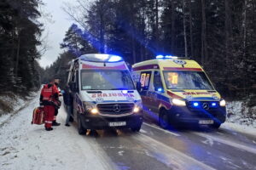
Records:
[[[129,71],[82,71],[82,90],[135,89]]]

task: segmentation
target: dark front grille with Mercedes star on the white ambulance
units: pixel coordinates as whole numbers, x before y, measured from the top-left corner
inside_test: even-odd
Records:
[[[134,104],[119,103],[119,104],[98,104],[97,108],[101,114],[105,115],[121,115],[131,113]]]

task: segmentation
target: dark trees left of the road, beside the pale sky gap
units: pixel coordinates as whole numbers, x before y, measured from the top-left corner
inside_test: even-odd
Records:
[[[40,0],[0,1],[0,94],[26,94],[40,87],[42,68],[38,65],[42,25]]]

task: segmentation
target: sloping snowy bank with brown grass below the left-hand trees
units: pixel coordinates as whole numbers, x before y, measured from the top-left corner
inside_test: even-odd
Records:
[[[17,112],[29,105],[30,101],[37,96],[37,92],[32,92],[27,97],[20,97],[16,94],[6,94],[0,96],[0,127],[4,123],[9,122],[11,116],[15,116]],[[3,108],[5,105],[9,105],[8,108]]]

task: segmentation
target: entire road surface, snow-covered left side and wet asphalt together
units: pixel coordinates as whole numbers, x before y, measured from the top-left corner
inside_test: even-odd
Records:
[[[32,99],[8,122],[0,121],[0,169],[256,169],[256,136],[221,127],[218,131],[163,130],[145,122],[140,133],[130,130],[77,133],[76,123],[46,132],[31,125]],[[0,118],[1,119],[1,118]],[[2,123],[2,124],[1,124]]]

